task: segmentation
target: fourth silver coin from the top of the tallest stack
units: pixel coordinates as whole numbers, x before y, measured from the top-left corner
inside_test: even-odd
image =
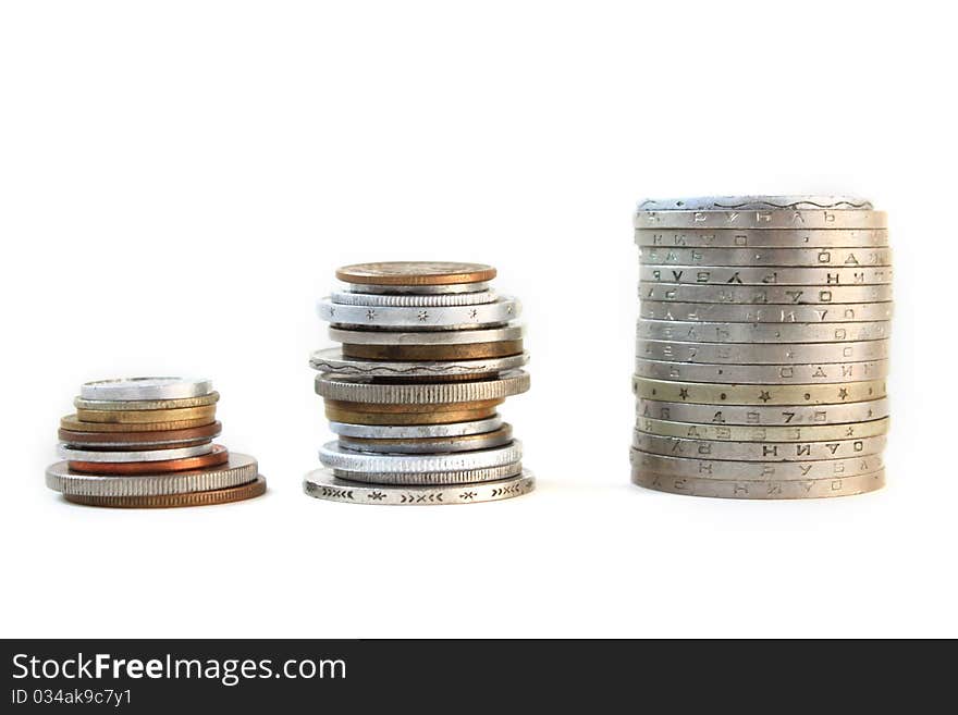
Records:
[[[889,248],[676,248],[642,246],[646,266],[751,266],[862,268],[891,266]]]

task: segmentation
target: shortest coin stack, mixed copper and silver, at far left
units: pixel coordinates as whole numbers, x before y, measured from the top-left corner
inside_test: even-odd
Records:
[[[60,420],[60,456],[47,486],[77,504],[172,507],[259,496],[256,459],[212,441],[222,426],[209,380],[88,382]]]

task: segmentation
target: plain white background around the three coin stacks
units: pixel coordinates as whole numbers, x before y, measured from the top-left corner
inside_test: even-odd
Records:
[[[894,9],[892,9],[894,8]],[[0,629],[54,637],[958,636],[953,11],[938,3],[5,2]],[[629,484],[646,196],[851,193],[896,250],[888,488]],[[300,491],[335,267],[476,260],[526,307],[538,491]],[[44,486],[82,382],[210,377],[265,498]]]

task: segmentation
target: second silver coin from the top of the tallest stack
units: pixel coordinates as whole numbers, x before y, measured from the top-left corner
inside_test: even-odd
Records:
[[[639,210],[636,229],[887,229],[884,211],[848,209]]]

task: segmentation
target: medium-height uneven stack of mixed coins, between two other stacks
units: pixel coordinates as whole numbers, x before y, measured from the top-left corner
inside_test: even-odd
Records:
[[[526,392],[515,298],[476,263],[347,266],[319,303],[342,347],[318,350],[316,392],[337,440],[310,496],[355,504],[470,504],[519,496],[535,478],[496,408]]]

